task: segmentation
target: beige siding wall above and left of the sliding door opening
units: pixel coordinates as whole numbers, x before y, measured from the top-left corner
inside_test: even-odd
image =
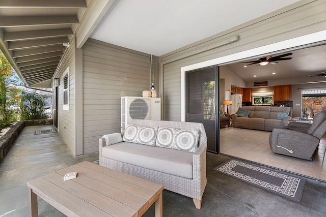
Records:
[[[326,1],[301,1],[159,57],[164,119],[181,120],[181,68],[324,30]],[[222,45],[229,39],[238,42]]]

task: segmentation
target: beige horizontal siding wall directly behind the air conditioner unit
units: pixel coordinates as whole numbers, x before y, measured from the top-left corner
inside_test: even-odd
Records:
[[[157,57],[152,80],[157,83]],[[150,89],[150,55],[94,39],[83,47],[84,153],[98,151],[98,139],[120,132],[120,99]]]

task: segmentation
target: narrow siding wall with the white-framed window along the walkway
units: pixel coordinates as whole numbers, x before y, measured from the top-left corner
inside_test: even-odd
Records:
[[[72,37],[74,38],[74,37]],[[75,52],[74,52],[74,39],[70,42],[70,46],[67,48],[64,55],[62,64],[59,66],[58,74],[55,77],[59,77],[58,88],[58,132],[63,141],[69,146],[73,154],[76,154],[76,140],[75,140]],[[63,77],[65,70],[69,67],[69,111],[63,110]]]

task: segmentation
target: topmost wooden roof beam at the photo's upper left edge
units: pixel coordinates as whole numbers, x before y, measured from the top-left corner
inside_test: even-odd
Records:
[[[0,8],[84,8],[85,0],[1,0]]]

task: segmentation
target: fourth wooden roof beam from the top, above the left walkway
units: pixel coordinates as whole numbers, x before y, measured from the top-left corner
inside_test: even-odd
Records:
[[[16,49],[24,49],[24,48],[32,48],[32,47],[41,47],[47,45],[63,44],[63,43],[69,43],[68,37],[14,41],[14,42],[9,42],[8,49],[16,50]]]

